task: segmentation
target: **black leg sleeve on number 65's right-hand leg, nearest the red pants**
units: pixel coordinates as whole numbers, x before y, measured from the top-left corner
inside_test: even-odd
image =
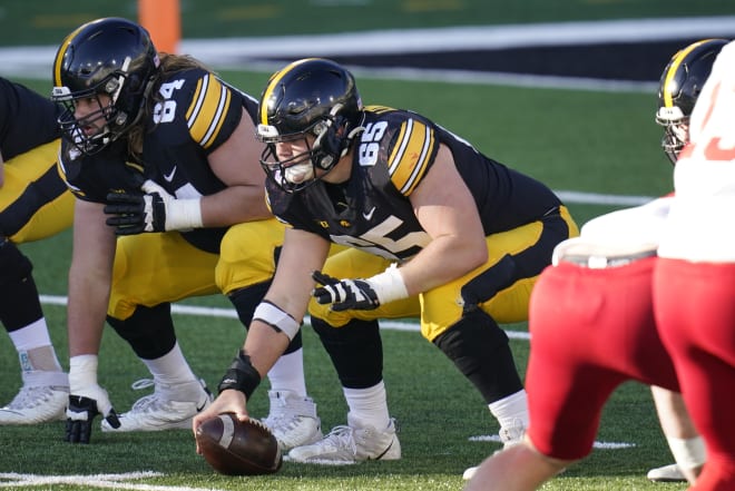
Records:
[[[508,335],[483,311],[464,314],[434,344],[478,387],[488,404],[523,389]]]

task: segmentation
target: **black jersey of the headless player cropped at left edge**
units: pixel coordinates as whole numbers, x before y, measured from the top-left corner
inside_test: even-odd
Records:
[[[0,77],[0,155],[10,160],[61,137],[61,107],[50,99]]]

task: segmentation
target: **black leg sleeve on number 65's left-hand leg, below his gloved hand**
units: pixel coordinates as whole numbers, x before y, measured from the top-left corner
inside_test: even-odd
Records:
[[[378,321],[353,318],[335,328],[312,317],[312,326],[332,359],[342,386],[367,389],[383,380],[383,342]]]

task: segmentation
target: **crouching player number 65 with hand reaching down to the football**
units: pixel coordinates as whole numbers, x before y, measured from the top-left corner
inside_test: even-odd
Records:
[[[288,227],[245,345],[194,425],[246,412],[308,307],[350,412],[347,426],[292,450],[292,460],[400,456],[382,379],[382,317],[421,317],[423,336],[482,394],[501,440],[518,441],[526,392],[498,324],[527,318],[553,247],[578,233],[559,198],[421,115],[363,107],[353,76],[331,60],[274,73],[257,121],[268,203]],[[330,243],[349,248],[325,264]]]

